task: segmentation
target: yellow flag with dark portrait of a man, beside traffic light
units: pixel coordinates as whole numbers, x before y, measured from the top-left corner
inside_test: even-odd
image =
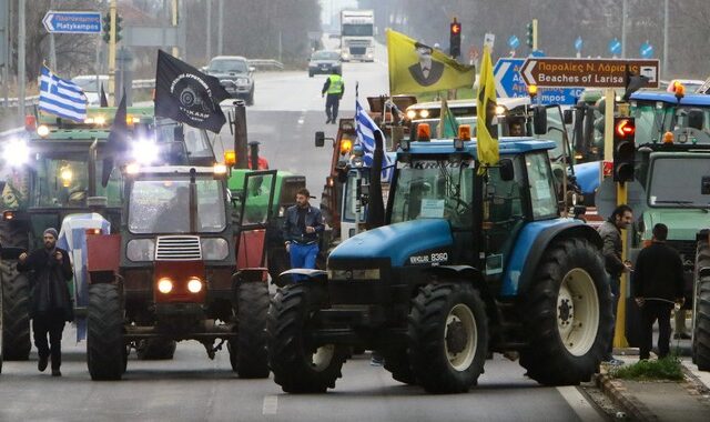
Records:
[[[476,77],[473,66],[393,30],[387,30],[387,57],[393,96],[473,87]]]

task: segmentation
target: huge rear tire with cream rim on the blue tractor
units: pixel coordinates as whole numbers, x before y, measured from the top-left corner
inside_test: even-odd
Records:
[[[552,242],[521,298],[528,346],[520,364],[545,385],[588,381],[611,341],[611,293],[599,251],[585,239]]]

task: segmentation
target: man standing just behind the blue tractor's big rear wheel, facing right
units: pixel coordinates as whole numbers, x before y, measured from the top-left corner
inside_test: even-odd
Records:
[[[604,254],[605,269],[609,274],[609,283],[611,294],[613,295],[611,304],[613,307],[613,323],[616,329],[617,308],[619,304],[620,278],[623,272],[631,270],[629,261],[621,260],[621,230],[627,229],[633,222],[633,211],[631,207],[622,204],[617,207],[611,217],[599,227],[599,235],[604,241],[601,253]],[[604,361],[619,365],[623,362],[613,358],[613,335],[616,330],[611,330],[611,341],[604,356]]]

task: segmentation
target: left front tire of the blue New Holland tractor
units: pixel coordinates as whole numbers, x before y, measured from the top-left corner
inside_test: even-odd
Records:
[[[287,393],[324,393],[335,388],[349,348],[311,344],[313,314],[326,305],[324,285],[290,284],[278,291],[268,309],[268,364],[274,381]]]

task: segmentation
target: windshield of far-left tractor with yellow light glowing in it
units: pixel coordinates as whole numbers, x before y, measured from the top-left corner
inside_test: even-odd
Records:
[[[32,202],[39,208],[82,208],[87,204],[89,169],[75,157],[37,155]]]

